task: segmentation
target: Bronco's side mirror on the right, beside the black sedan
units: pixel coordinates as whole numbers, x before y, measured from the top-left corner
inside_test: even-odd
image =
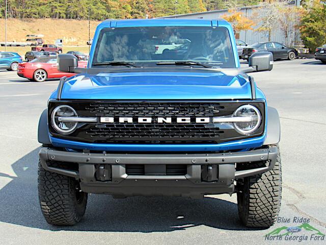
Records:
[[[258,52],[249,57],[249,66],[254,71],[265,71],[273,69],[273,54],[270,52]]]

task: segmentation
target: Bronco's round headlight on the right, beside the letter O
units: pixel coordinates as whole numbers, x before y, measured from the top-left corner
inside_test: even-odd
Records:
[[[239,121],[233,123],[234,128],[244,135],[253,133],[261,122],[259,110],[252,105],[240,106],[235,110],[233,116],[239,117]]]

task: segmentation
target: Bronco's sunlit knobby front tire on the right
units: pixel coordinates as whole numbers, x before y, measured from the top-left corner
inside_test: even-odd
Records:
[[[258,162],[257,167],[265,166]],[[241,222],[248,227],[272,226],[279,214],[282,193],[281,157],[275,167],[265,173],[237,180],[238,212]]]

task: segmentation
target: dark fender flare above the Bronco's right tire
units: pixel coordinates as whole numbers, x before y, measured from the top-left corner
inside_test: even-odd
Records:
[[[278,111],[274,107],[267,107],[266,138],[263,145],[277,144],[281,140],[281,124]]]

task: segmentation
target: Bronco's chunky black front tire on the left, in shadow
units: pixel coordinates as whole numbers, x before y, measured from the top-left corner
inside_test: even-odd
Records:
[[[82,219],[87,193],[73,178],[44,170],[39,163],[38,191],[41,211],[50,225],[71,226]]]

